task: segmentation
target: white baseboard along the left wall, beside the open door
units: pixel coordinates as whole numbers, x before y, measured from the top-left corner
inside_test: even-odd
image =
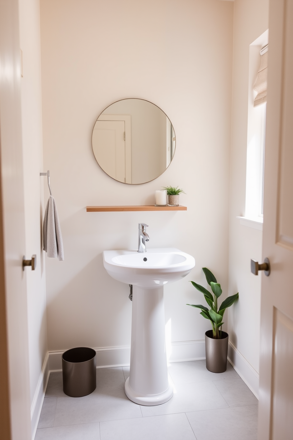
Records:
[[[32,427],[32,439],[35,438],[36,428],[39,422],[40,413],[43,405],[43,400],[45,396],[45,391],[47,388],[47,383],[49,380],[50,370],[49,370],[49,353],[47,353],[45,361],[43,363],[42,372],[40,375],[40,380],[36,388],[36,393],[33,398],[33,403],[31,407],[31,427]]]

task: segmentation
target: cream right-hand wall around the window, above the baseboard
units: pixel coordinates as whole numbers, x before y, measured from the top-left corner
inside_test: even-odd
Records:
[[[250,44],[268,29],[268,0],[235,0],[231,195],[229,231],[229,294],[239,301],[229,310],[229,355],[257,395],[260,337],[261,276],[250,272],[250,259],[262,261],[262,231],[240,224],[245,214],[246,148]],[[265,215],[265,213],[264,213]]]

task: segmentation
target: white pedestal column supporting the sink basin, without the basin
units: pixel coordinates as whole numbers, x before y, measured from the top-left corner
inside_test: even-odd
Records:
[[[163,289],[133,286],[132,291],[130,376],[125,393],[140,405],[160,405],[173,396],[166,361]]]

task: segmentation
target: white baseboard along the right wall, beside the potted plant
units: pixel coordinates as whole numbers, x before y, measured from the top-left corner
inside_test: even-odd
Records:
[[[228,345],[228,361],[258,399],[260,376],[231,341]]]

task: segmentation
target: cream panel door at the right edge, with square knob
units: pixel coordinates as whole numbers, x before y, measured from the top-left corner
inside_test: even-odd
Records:
[[[260,323],[260,440],[293,439],[293,0],[271,0]]]

